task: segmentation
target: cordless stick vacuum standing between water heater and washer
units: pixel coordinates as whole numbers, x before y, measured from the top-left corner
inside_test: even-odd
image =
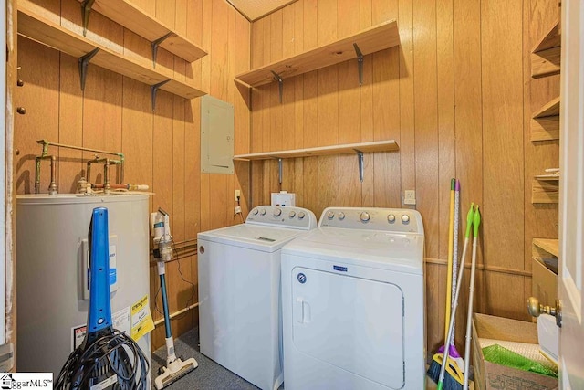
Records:
[[[154,237],[154,258],[158,260],[158,275],[161,279],[162,311],[164,311],[164,329],[166,331],[166,366],[159,370],[159,375],[154,380],[157,390],[171,385],[189,374],[199,366],[194,358],[182,359],[174,353],[174,340],[172,339],[171,317],[168,311],[168,299],[166,296],[165,263],[172,259],[172,236],[168,214],[158,208],[158,212],[151,213],[151,236]]]

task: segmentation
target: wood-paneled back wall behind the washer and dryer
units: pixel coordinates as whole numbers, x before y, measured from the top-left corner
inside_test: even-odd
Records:
[[[530,142],[528,126],[558,93],[558,77],[532,80],[529,52],[556,17],[555,0],[298,0],[252,25],[256,68],[398,20],[401,46],[365,57],[362,86],[348,61],[286,79],[282,104],[276,83],[253,89],[250,152],[388,139],[400,151],[365,155],[363,183],[353,155],[287,160],[281,185],[276,162],[252,163],[252,203],[287,190],[319,216],[326,206],[408,207],[403,191],[416,190],[429,353],[443,343],[452,177],[462,184],[461,219],[470,202],[483,217],[475,310],[529,320],[531,240],[558,237],[558,207],[530,201],[531,177],[558,166],[558,142]]]

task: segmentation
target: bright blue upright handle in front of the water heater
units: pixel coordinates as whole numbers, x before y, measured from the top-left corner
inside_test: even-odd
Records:
[[[89,226],[88,333],[111,327],[108,209],[96,207]]]

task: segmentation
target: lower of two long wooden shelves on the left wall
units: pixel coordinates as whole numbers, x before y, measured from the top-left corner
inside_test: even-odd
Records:
[[[41,44],[53,47],[70,56],[81,58],[99,48],[90,63],[104,69],[110,69],[130,79],[136,79],[154,86],[167,81],[160,89],[193,99],[203,96],[205,92],[197,90],[190,84],[174,79],[172,74],[162,73],[151,68],[150,61],[140,63],[134,59],[125,58],[122,54],[103,47],[86,37],[82,37],[66,28],[56,25],[43,16],[38,16],[28,7],[26,1],[18,1],[18,34],[28,37]]]

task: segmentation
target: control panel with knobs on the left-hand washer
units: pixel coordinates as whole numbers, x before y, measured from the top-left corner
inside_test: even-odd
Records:
[[[317,227],[317,217],[308,208],[296,206],[256,206],[247,215],[245,223],[309,230]]]

